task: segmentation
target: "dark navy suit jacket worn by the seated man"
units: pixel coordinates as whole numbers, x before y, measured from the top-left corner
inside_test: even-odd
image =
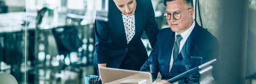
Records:
[[[148,60],[143,64],[141,71],[151,72],[155,76],[156,73],[160,72],[162,79],[170,79],[193,68],[191,63],[195,61],[189,61],[191,57],[202,58],[202,63],[218,57],[219,43],[217,39],[196,23],[178,56],[178,60],[174,61],[169,73],[174,36],[175,33],[171,31],[171,28],[164,28],[158,32],[155,47]]]

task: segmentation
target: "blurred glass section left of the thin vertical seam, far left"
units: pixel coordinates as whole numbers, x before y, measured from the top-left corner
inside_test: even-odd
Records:
[[[24,84],[26,72],[24,9],[25,0],[20,3],[0,0],[0,75],[11,74],[19,84]],[[1,80],[0,84],[1,82],[4,81]]]

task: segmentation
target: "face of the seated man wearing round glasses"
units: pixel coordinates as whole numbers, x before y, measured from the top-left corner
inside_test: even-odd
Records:
[[[194,9],[191,8],[188,4],[186,4],[183,0],[173,0],[166,2],[166,12],[171,13],[171,20],[167,20],[168,25],[171,27],[171,31],[176,32],[178,34],[186,31],[191,24],[193,23],[193,13]],[[173,13],[182,12],[181,18],[176,20],[173,18]]]

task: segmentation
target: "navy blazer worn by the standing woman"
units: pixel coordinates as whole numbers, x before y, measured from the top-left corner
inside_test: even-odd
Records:
[[[127,44],[122,13],[117,9],[114,2],[110,0],[108,22],[95,21],[95,52],[94,65],[107,63],[107,67],[119,68],[125,56],[128,54],[138,66],[142,66],[148,55],[141,36],[145,31],[152,47],[156,42],[158,32],[155,13],[151,0],[136,0],[135,10],[135,35]]]

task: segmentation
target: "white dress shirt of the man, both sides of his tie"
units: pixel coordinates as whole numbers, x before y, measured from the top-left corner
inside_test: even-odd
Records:
[[[188,38],[188,36],[190,35],[190,33],[192,32],[192,30],[194,29],[196,23],[195,23],[195,20],[193,20],[193,24],[185,31],[183,32],[182,34],[180,34],[182,36],[182,40],[180,42],[180,48],[179,48],[179,53],[181,52],[185,42],[186,42],[186,39]],[[175,33],[175,41],[176,41],[176,36],[178,34]],[[175,42],[174,42],[175,43]],[[174,44],[173,44],[174,45]],[[174,48],[174,46],[173,46]],[[171,72],[171,68],[172,68],[172,65],[173,65],[173,48],[172,48],[172,51],[171,51],[171,61],[170,61],[170,68],[169,68],[169,72]]]

